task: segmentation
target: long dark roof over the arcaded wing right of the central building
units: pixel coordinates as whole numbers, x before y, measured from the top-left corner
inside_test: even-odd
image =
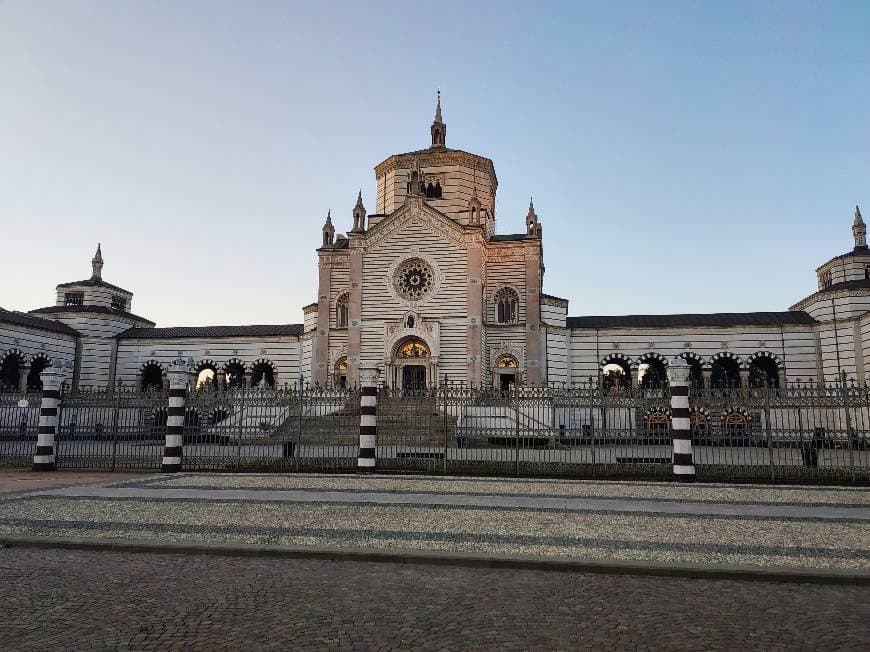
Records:
[[[568,317],[568,328],[686,328],[699,326],[798,326],[816,320],[799,310],[786,312],[717,312],[687,315],[620,315]]]

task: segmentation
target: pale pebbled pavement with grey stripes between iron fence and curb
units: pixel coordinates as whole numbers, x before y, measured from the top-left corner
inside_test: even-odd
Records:
[[[154,474],[0,495],[0,534],[870,570],[870,491]]]

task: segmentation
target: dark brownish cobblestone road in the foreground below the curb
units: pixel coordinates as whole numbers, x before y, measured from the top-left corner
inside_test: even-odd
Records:
[[[0,647],[866,650],[870,588],[0,550]]]

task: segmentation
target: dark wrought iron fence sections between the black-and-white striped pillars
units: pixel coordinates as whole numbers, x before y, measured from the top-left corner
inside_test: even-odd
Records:
[[[39,394],[0,395],[0,465],[29,467]],[[699,480],[870,481],[870,389],[693,389]],[[206,386],[187,397],[185,470],[353,470],[354,389]],[[662,387],[382,387],[377,468],[449,474],[671,477],[670,392]],[[160,468],[167,394],[64,390],[58,468]]]

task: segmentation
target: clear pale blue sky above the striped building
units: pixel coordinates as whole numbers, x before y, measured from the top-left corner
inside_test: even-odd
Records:
[[[571,315],[785,310],[870,220],[870,3],[0,0],[0,306],[302,321],[374,166],[487,156]]]

